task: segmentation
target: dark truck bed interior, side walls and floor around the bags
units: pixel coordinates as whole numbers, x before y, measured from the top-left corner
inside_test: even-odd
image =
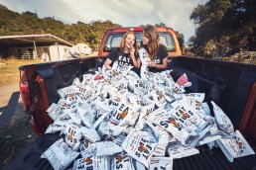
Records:
[[[75,59],[62,62],[51,62],[33,66],[36,75],[44,81],[44,86],[38,85],[32,96],[47,93],[48,104],[59,100],[57,90],[71,84],[75,77],[91,71],[100,65],[97,58]],[[26,65],[21,70],[32,66]],[[256,151],[256,66],[209,59],[177,57],[169,64],[173,69],[174,79],[187,73],[192,87],[188,92],[204,92],[205,101],[213,100],[230,118],[235,129],[239,129]],[[37,84],[37,83],[36,83]],[[44,88],[45,89],[42,89]],[[39,94],[36,94],[36,93]],[[252,93],[254,92],[254,93]],[[250,105],[248,105],[248,102]],[[40,104],[40,102],[39,102]],[[46,107],[46,106],[45,106]],[[48,107],[48,106],[47,106]],[[47,109],[45,108],[45,111]],[[41,107],[44,109],[44,107]],[[46,112],[33,113],[37,129],[44,131],[51,122]],[[246,119],[246,118],[250,119]],[[39,131],[40,131],[39,130]],[[51,146],[59,134],[43,134],[31,146],[20,153],[6,169],[51,169],[47,159],[41,159],[42,153]],[[236,158],[230,163],[219,148],[208,149],[200,146],[200,153],[190,157],[174,160],[174,169],[179,170],[231,170],[256,169],[256,156]],[[71,167],[71,165],[70,165]]]

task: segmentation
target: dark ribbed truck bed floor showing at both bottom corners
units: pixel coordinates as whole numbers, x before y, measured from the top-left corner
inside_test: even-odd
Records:
[[[8,170],[51,170],[52,165],[40,156],[61,136],[44,134],[33,145],[29,146],[6,168]],[[254,170],[256,169],[256,155],[236,158],[229,162],[219,148],[209,150],[205,146],[198,148],[199,154],[174,160],[174,170]],[[72,167],[72,164],[69,165]]]

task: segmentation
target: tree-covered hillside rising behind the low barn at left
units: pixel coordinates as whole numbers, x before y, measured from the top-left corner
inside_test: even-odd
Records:
[[[51,17],[40,19],[28,11],[15,13],[0,4],[0,36],[53,34],[67,42],[85,42],[97,49],[105,31],[117,27],[120,25],[109,20],[67,25]]]

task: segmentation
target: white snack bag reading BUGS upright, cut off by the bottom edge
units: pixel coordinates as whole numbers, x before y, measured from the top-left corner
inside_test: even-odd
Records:
[[[109,168],[110,162],[108,156],[91,156],[75,160],[72,170],[109,170]]]

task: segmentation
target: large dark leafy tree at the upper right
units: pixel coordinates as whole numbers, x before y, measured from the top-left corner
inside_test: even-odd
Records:
[[[196,26],[190,47],[199,55],[256,50],[256,1],[209,0],[192,11]]]

